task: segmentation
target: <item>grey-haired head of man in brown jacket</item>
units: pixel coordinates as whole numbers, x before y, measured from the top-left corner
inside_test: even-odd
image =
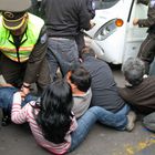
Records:
[[[125,80],[132,85],[138,85],[145,74],[145,64],[138,58],[130,58],[122,68]]]

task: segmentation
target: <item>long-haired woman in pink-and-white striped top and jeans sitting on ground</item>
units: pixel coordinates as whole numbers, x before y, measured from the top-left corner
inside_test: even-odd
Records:
[[[30,102],[21,108],[21,94],[13,95],[11,118],[16,124],[28,122],[37,143],[49,152],[63,155],[75,149],[97,120],[95,107],[76,122],[70,84],[54,81],[42,94],[40,102]]]

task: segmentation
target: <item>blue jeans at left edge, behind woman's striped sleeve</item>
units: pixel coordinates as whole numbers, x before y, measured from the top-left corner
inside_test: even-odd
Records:
[[[12,101],[13,101],[13,94],[18,91],[16,87],[11,86],[3,86],[0,87],[0,107],[3,108],[4,111],[11,113],[11,107],[12,107]],[[37,100],[35,96],[32,96],[28,94],[22,101],[21,106],[23,107],[28,102]]]

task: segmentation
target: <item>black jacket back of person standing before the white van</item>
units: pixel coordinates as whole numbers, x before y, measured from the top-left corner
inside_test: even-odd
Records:
[[[85,7],[83,0],[43,0],[41,13],[49,35],[73,38],[81,29],[89,30],[91,17]]]

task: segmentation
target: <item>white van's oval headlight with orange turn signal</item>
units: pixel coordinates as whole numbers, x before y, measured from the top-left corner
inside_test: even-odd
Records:
[[[118,27],[123,25],[123,20],[122,19],[113,19],[105,24],[103,24],[97,32],[94,34],[94,39],[102,41],[106,39],[108,35],[114,33]]]

